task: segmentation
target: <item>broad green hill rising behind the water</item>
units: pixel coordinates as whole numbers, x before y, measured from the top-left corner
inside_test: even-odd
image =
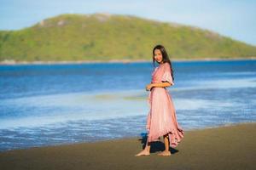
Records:
[[[256,56],[252,45],[193,26],[128,15],[61,14],[19,31],[0,31],[0,60],[150,60],[159,43],[172,59]]]

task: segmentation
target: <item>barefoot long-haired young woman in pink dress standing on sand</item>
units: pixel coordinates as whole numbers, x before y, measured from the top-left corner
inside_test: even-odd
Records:
[[[167,87],[174,85],[172,63],[166,49],[157,45],[153,49],[153,64],[159,64],[152,73],[152,81],[146,86],[150,90],[148,103],[150,111],[147,118],[147,144],[136,156],[150,155],[150,143],[163,136],[166,150],[160,156],[171,156],[169,146],[176,147],[183,138],[183,129],[177,123],[176,111]]]

